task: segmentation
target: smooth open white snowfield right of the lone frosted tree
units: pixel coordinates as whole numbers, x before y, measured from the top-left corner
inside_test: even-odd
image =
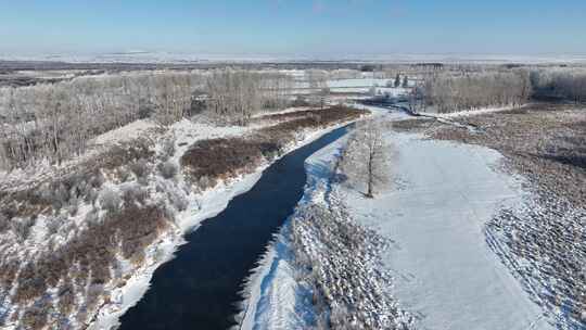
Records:
[[[374,200],[347,191],[365,226],[394,242],[394,295],[423,329],[551,329],[485,242],[484,225],[519,203],[518,181],[493,170],[500,154],[388,134],[394,183]]]

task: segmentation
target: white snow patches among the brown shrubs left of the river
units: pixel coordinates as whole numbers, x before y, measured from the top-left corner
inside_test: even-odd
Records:
[[[286,110],[284,112],[289,112]],[[84,156],[76,160],[72,160],[66,164],[49,166],[47,164],[47,170],[42,170],[38,176],[28,175],[25,172],[14,172],[10,176],[2,177],[0,183],[2,187],[16,188],[12,182],[17,182],[22,186],[28,186],[36,181],[43,180],[51,176],[56,177],[61,173],[66,174],[72,168],[78,168],[80,164],[87,160],[93,160],[93,157],[103,157],[102,152],[107,152],[110,149],[115,149],[116,145],[133,143],[137,139],[148,139],[150,141],[151,150],[156,155],[162,155],[168,151],[168,141],[173,141],[173,152],[167,157],[167,163],[173,164],[176,168],[179,167],[180,158],[184,152],[195,141],[202,139],[214,138],[228,138],[234,136],[242,136],[249,134],[259,127],[266,127],[277,124],[275,119],[258,119],[254,124],[240,127],[240,126],[216,126],[213,124],[206,124],[206,122],[191,122],[182,119],[171,125],[166,131],[150,120],[137,120],[118,129],[109,131],[97,137],[92,143],[89,152]],[[339,123],[326,128],[304,128],[296,131],[294,140],[284,145],[284,150],[293,150],[301,145],[304,145],[321,135],[344,125]],[[107,156],[107,153],[105,153]],[[88,319],[84,328],[89,329],[111,329],[115,328],[118,322],[118,318],[131,306],[133,306],[149,289],[149,283],[154,270],[162,264],[170,261],[178,246],[184,243],[183,234],[195,230],[199,224],[209,217],[215,216],[221,212],[229,201],[245,191],[247,191],[258,180],[260,172],[268,166],[268,161],[263,161],[254,173],[229,178],[224,181],[219,181],[212,189],[206,190],[193,190],[188,182],[184,174],[178,173],[171,178],[165,178],[158,172],[152,172],[151,175],[143,177],[140,183],[137,176],[130,175],[127,180],[118,181],[115,177],[109,179],[104,186],[107,186],[107,190],[116,194],[122,194],[128,189],[143,189],[146,193],[149,201],[161,201],[168,207],[169,216],[173,218],[169,221],[169,227],[164,232],[160,233],[149,245],[144,246],[144,258],[138,264],[133,264],[125,259],[124,257],[116,255],[116,258],[120,261],[118,266],[114,266],[114,272],[116,278],[107,281],[103,285],[104,292],[107,292],[107,300],[99,301],[99,306],[95,309],[90,310],[91,319]],[[150,166],[150,165],[145,165]],[[156,187],[155,187],[156,186]],[[75,225],[79,228],[85,228],[84,219],[90,213],[91,205],[84,204],[79,206],[77,216],[75,217]],[[102,202],[100,202],[102,203]],[[176,204],[177,203],[177,204]],[[16,253],[38,253],[43,252],[47,237],[49,236],[49,229],[46,228],[44,217],[40,216],[30,229],[30,236],[27,240],[20,244],[11,246],[10,253],[13,257],[16,257]],[[58,223],[60,226],[63,225]],[[63,242],[65,243],[65,241]],[[39,245],[40,244],[40,245]],[[42,248],[42,249],[41,249]],[[39,250],[41,249],[41,250]],[[14,250],[14,253],[12,252]],[[24,258],[24,257],[23,257]],[[124,279],[122,277],[124,276]],[[119,280],[118,280],[119,279]],[[54,290],[53,290],[54,291]],[[52,296],[49,300],[56,300],[56,292],[51,291]],[[82,294],[76,294],[76,302],[79,305],[84,304],[85,296]],[[16,304],[11,304],[10,301],[2,301],[0,305],[0,315],[10,315],[18,312],[20,308]],[[92,307],[93,308],[93,307]],[[13,310],[14,309],[14,310]],[[94,312],[97,310],[97,314]],[[73,310],[76,312],[75,308]],[[73,314],[75,315],[75,314]],[[68,316],[67,327],[77,328],[80,327],[80,321],[76,320],[74,316]],[[18,327],[17,321],[20,319],[14,318],[10,323],[0,322],[0,329],[15,329]],[[51,322],[53,320],[50,320]],[[5,326],[5,327],[3,327]]]

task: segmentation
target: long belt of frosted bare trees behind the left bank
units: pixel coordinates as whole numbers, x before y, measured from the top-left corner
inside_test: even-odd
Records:
[[[205,112],[246,124],[286,105],[288,77],[250,71],[149,72],[0,89],[0,168],[84,153],[90,140],[140,118],[163,126]]]

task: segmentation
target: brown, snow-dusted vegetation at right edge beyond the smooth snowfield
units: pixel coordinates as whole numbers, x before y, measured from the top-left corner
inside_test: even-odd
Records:
[[[586,325],[586,111],[540,103],[456,120],[480,129],[431,119],[394,127],[493,148],[505,155],[506,170],[528,180],[525,188],[534,192],[533,200],[500,210],[486,225],[487,242],[540,305],[563,310],[557,321],[582,329]]]

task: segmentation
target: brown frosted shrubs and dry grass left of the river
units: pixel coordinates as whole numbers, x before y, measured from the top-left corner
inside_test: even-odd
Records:
[[[263,158],[270,160],[282,152],[305,128],[349,120],[361,114],[345,107],[307,112],[303,118],[256,130],[246,138],[200,141],[181,162],[196,164],[190,167],[195,178],[213,181],[254,169]],[[12,254],[13,250],[0,249],[0,281],[2,289],[14,289],[11,304],[24,308],[17,320],[21,325],[26,321],[29,328],[41,327],[43,322],[53,323],[55,318],[66,319],[73,314],[79,321],[87,321],[109,299],[104,285],[123,281],[113,271],[118,267],[119,256],[141,265],[145,248],[170,226],[167,205],[184,210],[184,198],[165,188],[161,191],[167,194],[167,205],[149,200],[141,180],[156,170],[173,179],[177,170],[174,164],[166,163],[174,151],[155,154],[153,145],[143,139],[116,145],[81,161],[75,169],[64,167],[56,176],[2,190],[0,227],[4,233],[12,230],[24,242],[29,239],[28,231],[37,218],[42,216],[48,232],[60,238],[50,238],[35,255],[16,255]],[[132,182],[125,182],[119,189],[105,189],[106,180]],[[85,215],[82,223],[76,224],[71,217],[82,202],[93,205],[93,210]],[[11,238],[10,232],[0,237],[0,246],[8,246]],[[23,264],[22,258],[27,262]],[[49,315],[24,307],[39,306],[50,299],[53,289],[58,289],[58,300]],[[77,300],[78,295],[84,301]]]

